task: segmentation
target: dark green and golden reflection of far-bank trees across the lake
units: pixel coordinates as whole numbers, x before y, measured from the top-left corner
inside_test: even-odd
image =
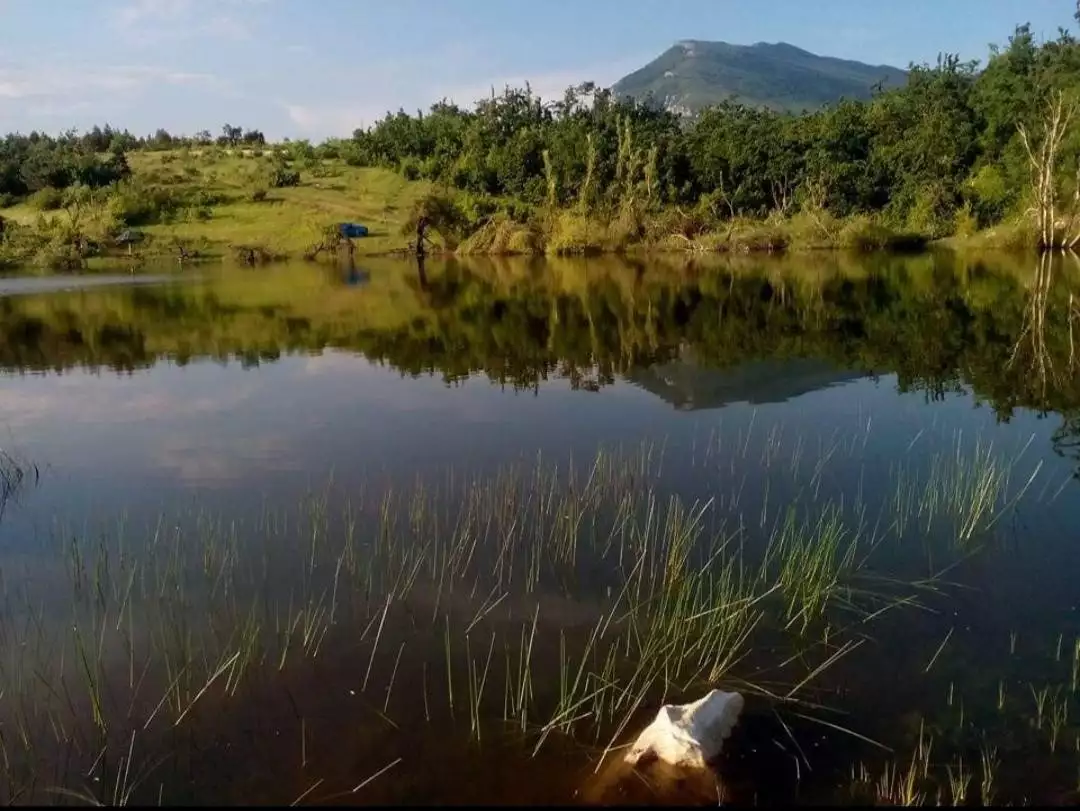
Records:
[[[948,256],[869,261],[809,273],[428,261],[373,269],[362,293],[336,279],[296,295],[246,281],[26,296],[0,299],[0,367],[130,370],[164,357],[256,365],[339,348],[448,382],[483,373],[523,390],[552,378],[596,390],[689,352],[712,367],[808,357],[893,373],[902,390],[929,400],[971,387],[1001,419],[1016,407],[1080,407],[1075,278],[1054,273],[1049,284],[1040,270],[1028,288],[1023,274]],[[342,298],[357,294],[367,310]],[[365,314],[373,307],[377,320]]]

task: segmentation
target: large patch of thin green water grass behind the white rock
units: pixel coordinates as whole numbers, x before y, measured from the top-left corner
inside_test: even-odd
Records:
[[[395,685],[416,684],[424,718],[445,705],[463,725],[468,709],[478,739],[498,716],[531,735],[534,752],[552,735],[609,751],[647,707],[713,686],[820,713],[814,685],[861,654],[867,623],[919,606],[940,586],[875,571],[885,540],[905,540],[888,519],[874,524],[873,511],[890,508],[861,491],[828,492],[831,465],[858,458],[868,432],[867,423],[855,437],[824,437],[825,461],[806,464],[811,446],[802,437],[791,457],[799,461],[781,464],[782,432],[754,420],[735,443],[706,446],[711,464],[720,447],[753,461],[757,436],[779,484],[756,503],[727,459],[712,495],[676,496],[664,485],[664,447],[649,444],[604,449],[583,464],[538,459],[495,475],[388,484],[348,500],[340,514],[325,492],[309,495],[296,510],[264,509],[254,532],[202,512],[159,521],[144,544],[122,526],[110,538],[60,532],[50,542],[65,562],[70,610],[92,622],[59,635],[72,655],[67,672],[42,670],[52,690],[41,699],[48,708],[26,717],[27,747],[43,732],[71,738],[87,717],[71,691],[73,672],[99,731],[141,734],[193,722],[212,695],[235,698],[266,668],[313,662],[338,634],[357,632],[366,662],[356,686],[379,693],[383,716],[392,692],[395,705],[405,703]],[[948,481],[943,468],[934,487],[946,491]],[[1012,500],[993,503],[1000,510]],[[935,509],[951,521],[956,502],[941,499]],[[966,525],[962,515],[957,522]],[[555,598],[581,618],[561,619],[546,607]],[[5,618],[4,640],[56,661],[51,620],[29,606],[19,611],[25,624]],[[424,658],[409,644],[416,655],[406,662],[403,627],[431,630],[443,650]],[[767,655],[766,641],[783,653]],[[118,651],[120,670],[110,664]],[[414,659],[422,678],[403,674]],[[429,691],[440,659],[442,699]],[[0,672],[0,693],[31,688]],[[501,714],[492,693],[501,693]],[[414,698],[419,712],[421,695]],[[8,745],[9,759],[15,748]]]

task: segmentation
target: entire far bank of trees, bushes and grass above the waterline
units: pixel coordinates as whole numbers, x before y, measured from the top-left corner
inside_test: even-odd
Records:
[[[779,252],[1076,242],[1080,43],[1027,26],[980,68],[913,66],[902,86],[804,114],[723,103],[677,114],[591,83],[475,108],[389,114],[320,145],[110,127],[0,141],[0,268],[102,257],[632,249]]]

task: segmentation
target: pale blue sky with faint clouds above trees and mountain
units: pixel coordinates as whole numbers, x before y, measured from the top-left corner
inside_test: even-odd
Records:
[[[346,135],[529,80],[609,84],[680,39],[785,41],[906,67],[985,59],[1070,0],[0,0],[0,130]]]

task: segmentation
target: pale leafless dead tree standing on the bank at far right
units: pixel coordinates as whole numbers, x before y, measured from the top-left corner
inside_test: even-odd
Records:
[[[1035,137],[1024,124],[1017,124],[1021,141],[1031,167],[1031,191],[1039,247],[1042,251],[1071,251],[1080,242],[1080,168],[1074,181],[1071,200],[1063,211],[1056,183],[1062,141],[1077,112],[1077,103],[1066,100],[1061,91],[1052,94],[1041,122],[1041,133]],[[1064,219],[1059,217],[1064,216]]]

